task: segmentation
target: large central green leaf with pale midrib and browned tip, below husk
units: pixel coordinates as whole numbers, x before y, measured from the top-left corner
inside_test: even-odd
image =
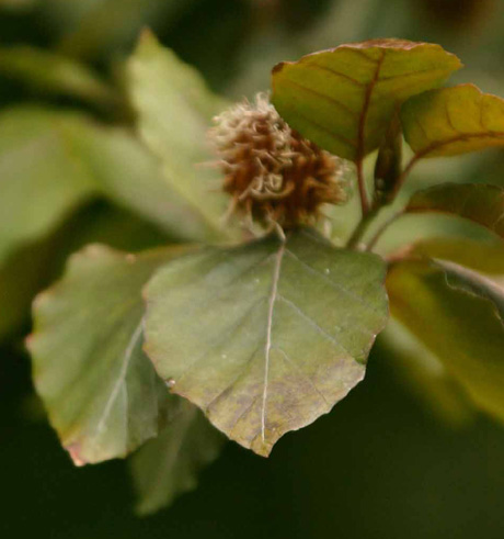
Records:
[[[309,229],[208,248],[146,290],[146,351],[172,391],[267,456],[364,377],[387,321],[385,266]]]

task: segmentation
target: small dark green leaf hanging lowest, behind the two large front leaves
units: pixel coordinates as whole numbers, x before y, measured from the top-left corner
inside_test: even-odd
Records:
[[[196,406],[174,395],[171,398],[177,404],[169,425],[130,460],[140,515],[168,507],[194,490],[197,472],[218,457],[225,441]]]

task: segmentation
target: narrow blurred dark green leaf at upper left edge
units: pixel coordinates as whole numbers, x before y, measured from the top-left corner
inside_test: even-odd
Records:
[[[1,48],[0,74],[43,91],[106,106],[117,104],[113,89],[88,66],[49,50],[26,45]]]

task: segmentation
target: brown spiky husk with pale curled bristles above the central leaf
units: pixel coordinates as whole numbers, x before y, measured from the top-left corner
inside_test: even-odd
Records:
[[[344,162],[293,131],[259,94],[214,119],[209,132],[230,213],[284,228],[314,223],[322,204],[347,200]]]

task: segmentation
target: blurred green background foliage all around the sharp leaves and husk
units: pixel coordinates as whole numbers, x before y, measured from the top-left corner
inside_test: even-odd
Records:
[[[227,99],[267,90],[277,61],[383,36],[439,43],[466,65],[454,82],[504,96],[500,0],[0,0],[3,536],[500,539],[504,431],[400,328],[332,414],[287,436],[267,461],[228,443],[198,490],[154,517],[131,513],[123,462],[72,467],[30,381],[33,296],[85,244],[135,251],[207,236],[167,194],[137,135],[125,63],[146,26]],[[406,191],[442,180],[502,184],[503,167],[503,151],[436,159]],[[334,215],[336,240],[355,211]],[[381,249],[438,227],[491,243],[445,217],[406,220]]]

